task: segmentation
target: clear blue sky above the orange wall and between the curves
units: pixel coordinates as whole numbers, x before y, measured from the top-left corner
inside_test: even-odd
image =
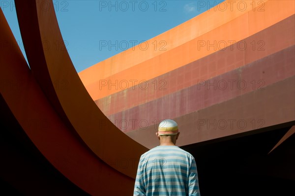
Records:
[[[78,72],[203,13],[223,0],[54,0]],[[1,9],[25,55],[13,0]],[[43,8],[48,9],[46,3]],[[112,44],[112,46],[110,45]],[[135,44],[135,45],[137,45]]]

